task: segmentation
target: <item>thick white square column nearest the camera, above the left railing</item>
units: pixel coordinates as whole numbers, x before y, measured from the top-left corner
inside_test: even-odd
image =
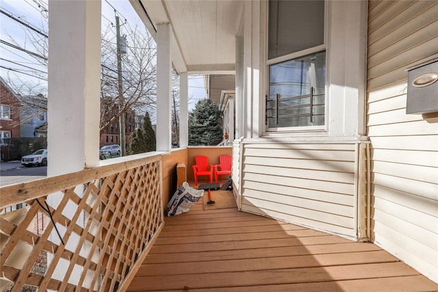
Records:
[[[101,1],[49,1],[47,176],[99,166]]]

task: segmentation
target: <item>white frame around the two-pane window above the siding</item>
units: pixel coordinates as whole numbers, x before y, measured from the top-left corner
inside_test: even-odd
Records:
[[[320,126],[304,126],[304,127],[279,127],[279,128],[269,128],[268,127],[268,122],[266,121],[266,96],[269,95],[269,70],[270,70],[270,66],[273,64],[277,64],[277,63],[281,63],[281,62],[285,62],[285,61],[289,61],[292,59],[296,59],[298,57],[303,57],[305,55],[310,55],[312,53],[318,53],[320,51],[326,51],[326,47],[327,47],[327,30],[328,30],[328,8],[327,8],[327,1],[324,1],[324,44],[321,44],[319,46],[316,47],[312,47],[309,49],[305,49],[302,51],[298,51],[298,52],[294,52],[294,53],[290,53],[287,55],[282,55],[279,57],[275,57],[273,59],[268,59],[268,45],[269,45],[269,37],[268,37],[268,31],[269,31],[269,1],[266,1],[266,5],[264,7],[264,9],[266,10],[266,12],[264,13],[265,15],[265,29],[266,29],[266,38],[264,38],[264,42],[265,42],[265,52],[264,52],[264,68],[265,68],[265,73],[263,74],[263,83],[264,84],[264,92],[266,92],[265,96],[263,96],[263,100],[265,101],[263,103],[263,124],[264,124],[264,131],[263,131],[263,136],[270,136],[270,135],[278,135],[279,133],[281,135],[285,134],[285,133],[322,133],[323,135],[326,134],[326,132],[328,131],[328,121],[329,121],[329,106],[328,106],[328,102],[329,102],[329,98],[328,98],[328,88],[327,88],[327,84],[328,84],[328,77],[326,75],[326,80],[325,80],[325,98],[324,98],[324,124],[320,125]],[[263,60],[262,60],[263,62]],[[326,53],[326,68],[328,68],[328,64],[329,64],[329,60],[328,60],[328,54]]]

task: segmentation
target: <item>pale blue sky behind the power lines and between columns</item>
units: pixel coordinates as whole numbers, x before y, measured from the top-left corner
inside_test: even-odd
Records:
[[[48,5],[47,0],[1,0],[1,10],[12,15],[25,23],[29,23],[31,27],[38,28],[42,34],[47,34],[47,17]],[[114,11],[116,10],[116,12]],[[142,29],[146,31],[140,18],[134,12],[128,0],[102,0],[102,28],[106,28],[110,23],[115,23],[115,14],[120,17],[120,23],[124,23],[125,19],[129,25],[140,23]],[[120,27],[120,34],[123,35],[124,25]],[[8,81],[9,77],[20,85],[22,83],[32,84],[34,89],[41,90],[47,88],[47,68],[40,66],[36,59],[29,53],[15,49],[10,44],[14,42],[25,48],[27,51],[36,53],[36,49],[29,40],[26,40],[25,25],[14,21],[5,14],[0,14],[0,77]],[[114,38],[116,38],[116,30]],[[34,33],[38,41],[45,39],[44,36]],[[6,44],[9,43],[9,44]],[[129,44],[128,44],[129,45]],[[12,70],[11,70],[12,69]],[[33,69],[37,70],[38,78],[31,77]],[[19,72],[16,72],[19,71]],[[201,75],[189,75],[189,110],[194,108],[198,99],[205,98],[205,85]],[[46,96],[45,93],[43,93]]]

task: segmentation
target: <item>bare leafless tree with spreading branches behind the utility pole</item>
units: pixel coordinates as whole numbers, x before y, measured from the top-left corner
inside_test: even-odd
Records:
[[[101,134],[129,109],[149,113],[155,113],[156,110],[155,41],[151,35],[140,31],[136,23],[125,36],[128,43],[127,53],[122,55],[124,104],[114,111],[114,105],[119,104],[120,96],[117,78],[117,44],[111,34],[112,28],[107,27],[102,36]]]

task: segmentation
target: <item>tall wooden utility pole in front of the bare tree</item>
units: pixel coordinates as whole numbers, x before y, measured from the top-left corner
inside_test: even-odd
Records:
[[[122,53],[120,41],[120,23],[116,16],[116,38],[117,38],[117,75],[118,75],[118,112],[120,113],[125,107],[125,98],[123,98],[122,84]],[[126,129],[125,129],[125,112],[118,117],[119,132],[120,132],[120,156],[125,156],[126,153]]]

